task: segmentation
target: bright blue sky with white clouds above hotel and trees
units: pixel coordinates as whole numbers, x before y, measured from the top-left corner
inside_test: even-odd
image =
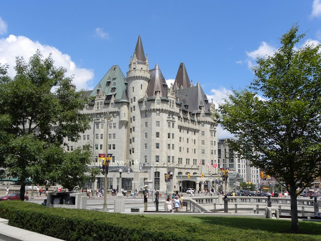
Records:
[[[126,76],[140,34],[150,68],[158,63],[170,83],[184,62],[216,106],[232,86],[249,85],[255,57],[272,55],[293,24],[306,32],[303,42],[321,42],[321,0],[0,3],[0,63],[11,76],[16,56],[40,49],[75,75],[78,89],[93,89],[112,65]]]

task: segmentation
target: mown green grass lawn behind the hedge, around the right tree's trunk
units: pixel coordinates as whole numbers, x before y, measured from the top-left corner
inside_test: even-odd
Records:
[[[148,217],[177,220],[191,227],[194,223],[205,225],[214,240],[321,240],[321,222],[299,221],[296,234],[291,233],[291,220],[175,214]]]

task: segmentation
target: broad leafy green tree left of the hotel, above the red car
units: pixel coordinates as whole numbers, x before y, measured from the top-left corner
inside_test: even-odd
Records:
[[[66,139],[77,141],[90,119],[80,112],[88,99],[76,91],[66,69],[55,67],[51,55],[37,51],[28,63],[16,59],[16,76],[0,65],[0,164],[7,176],[21,182],[23,200],[26,178],[35,184],[60,183],[72,190],[90,178],[89,147],[66,152]]]

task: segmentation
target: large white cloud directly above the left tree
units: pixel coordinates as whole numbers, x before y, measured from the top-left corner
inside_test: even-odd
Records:
[[[10,35],[8,38],[0,39],[0,64],[9,64],[9,75],[15,76],[16,72],[14,66],[16,65],[16,57],[24,57],[26,61],[36,53],[37,49],[46,58],[52,53],[52,58],[55,61],[57,67],[64,67],[67,69],[66,76],[74,75],[73,83],[77,89],[93,89],[92,79],[94,72],[91,69],[79,68],[71,60],[68,54],[63,54],[58,49],[52,46],[43,45],[41,43],[34,42],[24,36]]]

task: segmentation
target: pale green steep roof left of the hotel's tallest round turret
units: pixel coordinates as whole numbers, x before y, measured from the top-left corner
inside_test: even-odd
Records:
[[[123,92],[126,91],[124,80],[125,76],[119,66],[113,65],[91,92],[90,96],[96,96],[96,92],[101,86],[101,90],[105,92],[106,96],[113,94],[115,99],[122,100],[124,98]],[[113,91],[111,91],[112,89]],[[128,100],[127,96],[126,100]]]

